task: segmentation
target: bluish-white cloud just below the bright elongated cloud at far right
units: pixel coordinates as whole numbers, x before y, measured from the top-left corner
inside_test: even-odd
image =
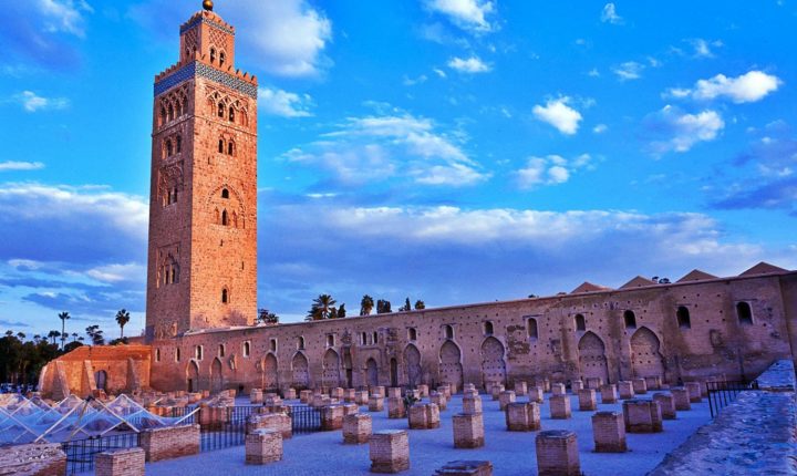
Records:
[[[649,117],[648,123],[651,130],[666,136],[652,143],[655,153],[689,152],[698,142],[714,141],[725,127],[725,122],[715,111],[685,114],[670,105]]]

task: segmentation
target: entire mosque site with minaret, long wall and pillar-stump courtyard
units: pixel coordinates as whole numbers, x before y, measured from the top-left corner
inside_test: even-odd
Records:
[[[256,324],[258,81],[211,1],[179,38],[154,84],[145,335],[51,362],[39,410],[0,405],[0,428],[22,425],[31,443],[0,449],[0,474],[66,470],[73,446],[51,420],[10,410],[55,412],[46,402],[91,436],[136,434],[95,448],[103,475],[145,462],[147,474],[797,474],[797,272],[766,262]],[[92,412],[110,430],[91,433],[77,416]],[[236,425],[237,445],[208,447]]]

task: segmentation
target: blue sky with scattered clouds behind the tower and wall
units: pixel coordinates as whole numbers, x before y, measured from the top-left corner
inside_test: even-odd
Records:
[[[448,306],[797,268],[797,2],[237,0],[259,303]],[[144,315],[153,76],[200,2],[0,31],[0,329]]]

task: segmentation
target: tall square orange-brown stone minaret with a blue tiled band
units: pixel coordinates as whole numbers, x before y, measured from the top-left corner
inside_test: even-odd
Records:
[[[257,79],[235,69],[235,28],[203,6],[155,77],[148,341],[257,314]]]

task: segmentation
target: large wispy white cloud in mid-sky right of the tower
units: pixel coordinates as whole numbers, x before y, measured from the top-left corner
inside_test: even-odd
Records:
[[[404,115],[351,117],[337,131],[323,134],[303,148],[290,151],[288,161],[321,165],[346,184],[366,184],[405,177],[421,185],[473,185],[490,177],[427,118]]]

